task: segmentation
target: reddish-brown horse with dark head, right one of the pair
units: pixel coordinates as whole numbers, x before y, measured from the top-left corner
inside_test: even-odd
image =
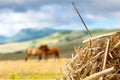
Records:
[[[52,55],[54,54],[55,55],[55,59],[58,58],[59,59],[59,52],[58,52],[58,49],[57,48],[48,48],[47,45],[41,45],[39,47],[39,49],[41,49],[43,52],[44,52],[44,55],[45,55],[45,59],[47,60],[48,59],[48,55]]]

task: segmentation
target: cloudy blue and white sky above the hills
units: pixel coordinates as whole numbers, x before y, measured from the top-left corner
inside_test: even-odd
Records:
[[[0,0],[0,35],[24,28],[85,29],[72,2],[89,29],[120,28],[120,0]]]

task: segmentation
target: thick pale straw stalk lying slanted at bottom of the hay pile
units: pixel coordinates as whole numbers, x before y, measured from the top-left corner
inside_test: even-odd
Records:
[[[111,67],[111,68],[105,69],[105,70],[103,70],[103,71],[100,71],[100,72],[98,72],[98,73],[92,74],[92,75],[84,78],[83,80],[93,80],[93,79],[96,79],[96,78],[98,78],[98,77],[101,77],[101,76],[103,76],[103,75],[105,75],[105,74],[111,73],[111,72],[113,72],[114,70],[115,70],[114,67]]]

